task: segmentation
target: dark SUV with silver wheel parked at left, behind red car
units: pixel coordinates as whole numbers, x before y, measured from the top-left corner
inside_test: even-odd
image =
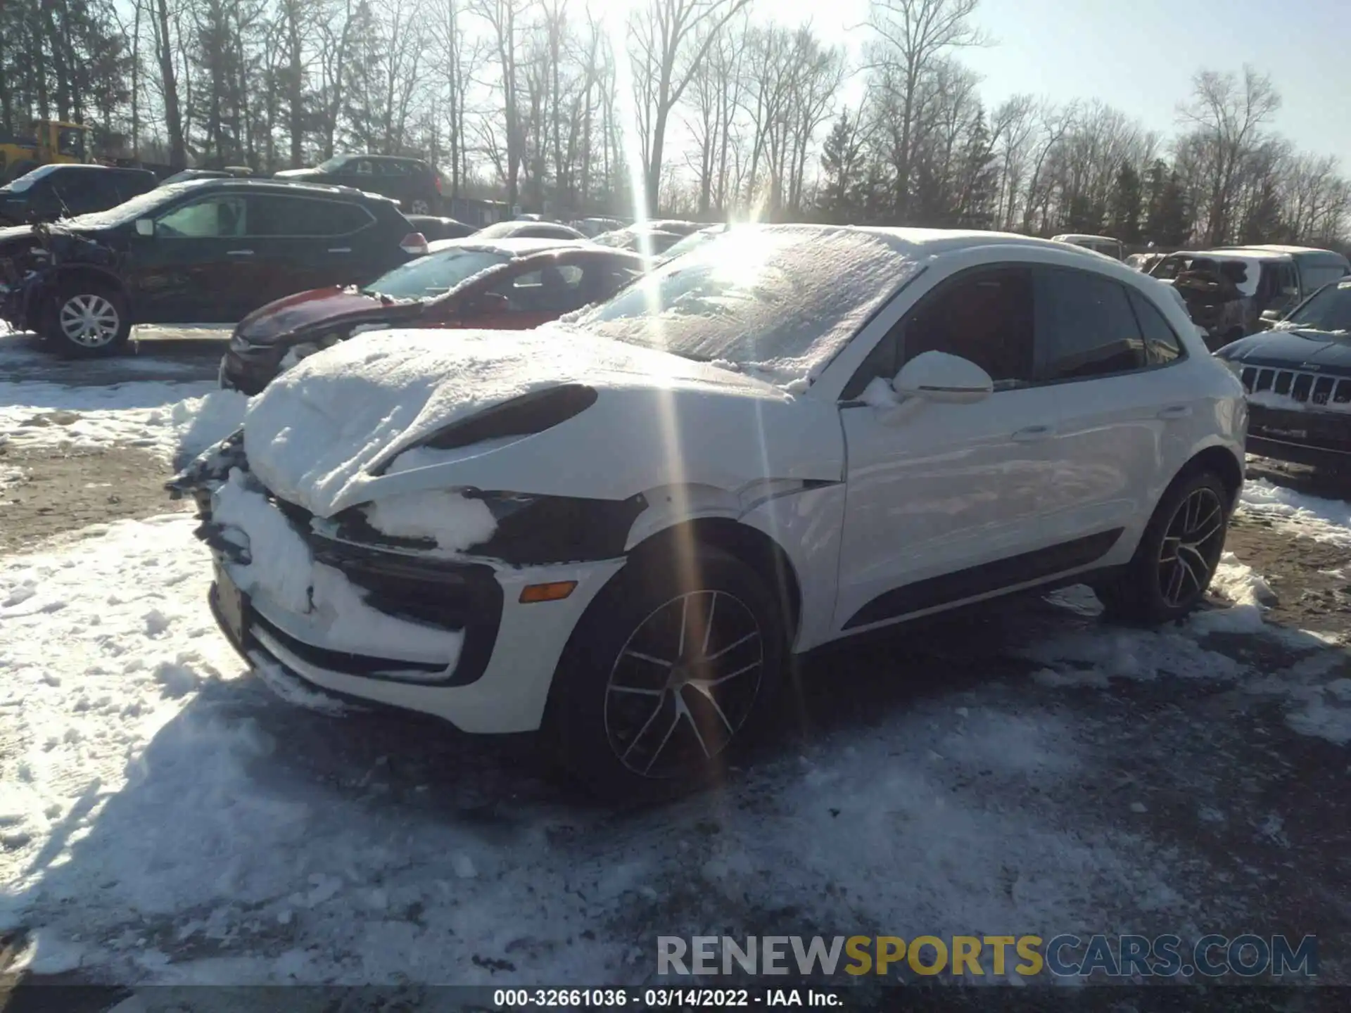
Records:
[[[393,201],[195,180],[55,224],[0,228],[0,319],[100,355],[132,324],[232,324],[292,292],[361,285],[427,242]]]

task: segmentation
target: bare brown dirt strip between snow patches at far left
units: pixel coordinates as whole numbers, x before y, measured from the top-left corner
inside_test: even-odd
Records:
[[[0,552],[23,552],[91,524],[168,513],[165,462],[139,447],[0,446]]]

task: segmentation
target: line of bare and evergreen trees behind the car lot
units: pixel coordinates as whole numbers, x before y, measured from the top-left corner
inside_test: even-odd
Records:
[[[755,1],[8,0],[0,130],[78,120],[173,167],[417,155],[449,194],[559,215],[640,196],[709,220],[1347,238],[1351,184],[1271,130],[1252,68],[1197,72],[1165,136],[1100,101],[988,105],[962,62],[997,45],[978,0],[871,0],[852,55]]]

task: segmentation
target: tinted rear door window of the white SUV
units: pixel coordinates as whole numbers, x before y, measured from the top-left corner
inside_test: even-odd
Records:
[[[1039,267],[1036,361],[1042,382],[1086,380],[1148,365],[1125,286],[1089,271]]]

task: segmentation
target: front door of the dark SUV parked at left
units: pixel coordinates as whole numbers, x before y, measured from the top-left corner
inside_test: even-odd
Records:
[[[136,323],[235,323],[262,284],[246,236],[247,201],[216,190],[154,217],[154,235],[132,235],[126,269]]]

